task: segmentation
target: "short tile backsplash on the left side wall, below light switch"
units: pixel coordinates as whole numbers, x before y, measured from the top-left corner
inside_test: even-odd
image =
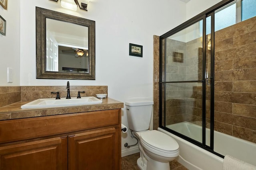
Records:
[[[0,86],[0,107],[20,101],[20,86]]]

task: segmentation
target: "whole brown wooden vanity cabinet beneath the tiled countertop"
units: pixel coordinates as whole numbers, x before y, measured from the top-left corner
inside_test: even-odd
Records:
[[[120,113],[0,121],[0,170],[120,170]]]

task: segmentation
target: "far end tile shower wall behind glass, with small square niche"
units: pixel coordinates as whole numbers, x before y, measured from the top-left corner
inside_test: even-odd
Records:
[[[183,60],[175,61],[174,52],[182,53]],[[166,39],[166,80],[186,80],[186,43]],[[166,125],[184,121],[186,112],[186,84],[166,84]],[[162,119],[164,120],[164,119]]]

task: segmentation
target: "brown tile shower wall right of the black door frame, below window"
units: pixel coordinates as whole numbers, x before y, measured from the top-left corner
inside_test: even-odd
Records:
[[[256,17],[215,33],[215,130],[256,143]]]

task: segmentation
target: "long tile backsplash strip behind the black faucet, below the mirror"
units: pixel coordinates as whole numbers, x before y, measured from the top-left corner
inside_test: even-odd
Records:
[[[96,94],[108,94],[108,86],[70,86],[70,96],[77,97],[78,91],[84,91],[82,96],[95,96]],[[60,97],[67,96],[66,86],[21,86],[21,101],[36,100],[39,98],[55,98],[60,92]]]

